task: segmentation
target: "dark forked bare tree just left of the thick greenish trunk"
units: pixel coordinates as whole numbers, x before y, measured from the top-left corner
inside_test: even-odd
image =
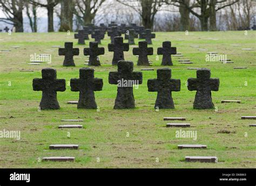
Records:
[[[43,4],[40,2],[36,2],[33,0],[30,0],[30,3],[33,5],[39,5],[47,9],[48,13],[48,32],[54,32],[53,29],[53,12],[55,6],[59,3],[60,0],[47,0],[47,4]],[[64,0],[65,1],[65,0]]]

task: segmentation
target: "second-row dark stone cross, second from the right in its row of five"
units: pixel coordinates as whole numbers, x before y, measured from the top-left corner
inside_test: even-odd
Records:
[[[139,55],[137,65],[150,65],[147,55],[153,55],[153,48],[147,48],[147,41],[139,41],[139,48],[133,48],[132,53],[133,55]]]

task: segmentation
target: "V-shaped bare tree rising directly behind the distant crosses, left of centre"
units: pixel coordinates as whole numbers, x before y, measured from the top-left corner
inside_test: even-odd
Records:
[[[95,15],[105,0],[76,0],[75,15],[81,25],[92,23]]]

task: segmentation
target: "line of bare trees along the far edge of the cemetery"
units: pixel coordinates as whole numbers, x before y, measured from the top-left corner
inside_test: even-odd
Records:
[[[158,12],[178,12],[178,31],[192,30],[191,22],[196,17],[201,31],[217,30],[217,12],[227,16],[228,28],[250,28],[255,2],[251,0],[0,0],[0,10],[5,17],[0,22],[15,26],[16,32],[23,32],[23,16],[28,17],[32,32],[37,32],[39,8],[44,8],[48,16],[48,32],[54,31],[53,14],[59,17],[59,31],[73,31],[77,26],[91,24],[101,11],[114,8],[129,9],[130,16],[137,15],[145,28],[153,29]],[[254,8],[253,8],[254,7]],[[121,11],[122,12],[122,11]],[[165,13],[166,15],[166,13]],[[120,15],[122,16],[122,15]],[[167,17],[166,22],[173,22]],[[166,23],[168,24],[168,23]]]

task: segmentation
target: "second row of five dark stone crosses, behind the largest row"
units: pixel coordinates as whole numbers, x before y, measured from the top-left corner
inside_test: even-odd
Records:
[[[123,37],[115,37],[113,44],[108,45],[109,52],[113,52],[112,65],[124,60],[124,51],[129,51],[129,44],[123,42]],[[98,42],[90,42],[89,48],[84,48],[84,55],[89,55],[89,66],[100,66],[99,55],[105,53],[104,47],[98,47]],[[153,55],[153,47],[147,47],[147,41],[139,41],[139,47],[133,48],[133,55],[138,55],[137,65],[149,66],[148,55]],[[171,41],[164,41],[163,47],[157,49],[158,55],[163,55],[161,65],[172,66],[172,54],[176,54],[176,47],[171,47]],[[72,42],[65,42],[65,48],[59,48],[59,55],[64,55],[63,66],[75,66],[73,56],[79,55],[79,48],[73,48]]]

